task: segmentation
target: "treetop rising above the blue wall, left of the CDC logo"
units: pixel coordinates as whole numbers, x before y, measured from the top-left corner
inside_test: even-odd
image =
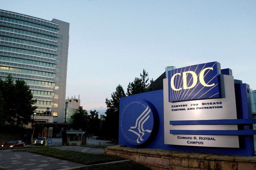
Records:
[[[147,87],[149,86],[148,83],[148,72],[143,69],[143,73],[140,73],[140,78],[135,78],[132,83],[129,83],[127,87],[127,95],[138,94],[142,92],[146,92]],[[150,85],[154,82],[154,80],[150,80]]]

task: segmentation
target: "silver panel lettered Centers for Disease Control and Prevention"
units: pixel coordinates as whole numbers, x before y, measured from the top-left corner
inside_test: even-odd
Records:
[[[222,98],[168,101],[168,78],[164,79],[164,144],[238,148],[238,136],[174,135],[170,130],[237,130],[237,125],[170,125],[170,121],[237,119],[234,78],[220,75]]]

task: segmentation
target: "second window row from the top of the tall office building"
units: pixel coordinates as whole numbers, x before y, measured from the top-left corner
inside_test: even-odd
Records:
[[[8,17],[0,17],[0,20],[8,21],[8,22],[16,23],[16,24],[22,24],[22,25],[26,25],[26,26],[34,26],[34,27],[37,27],[37,28],[42,28],[42,29],[58,32],[57,28],[53,28],[51,26],[45,26],[45,25],[37,24],[37,23],[33,23],[33,22],[28,22],[28,21],[24,21],[24,20],[20,20],[20,19],[13,19],[13,18],[8,18]]]

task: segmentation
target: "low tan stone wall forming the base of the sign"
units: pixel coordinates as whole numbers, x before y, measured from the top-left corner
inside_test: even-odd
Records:
[[[109,146],[105,149],[105,153],[130,159],[156,170],[256,169],[256,157],[253,156],[143,149],[125,147],[125,145]]]

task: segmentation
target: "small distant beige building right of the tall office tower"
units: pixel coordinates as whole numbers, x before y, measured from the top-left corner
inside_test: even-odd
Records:
[[[71,116],[74,115],[77,111],[77,108],[80,106],[80,99],[72,98],[66,99],[66,109],[65,109],[65,123],[71,123]]]

